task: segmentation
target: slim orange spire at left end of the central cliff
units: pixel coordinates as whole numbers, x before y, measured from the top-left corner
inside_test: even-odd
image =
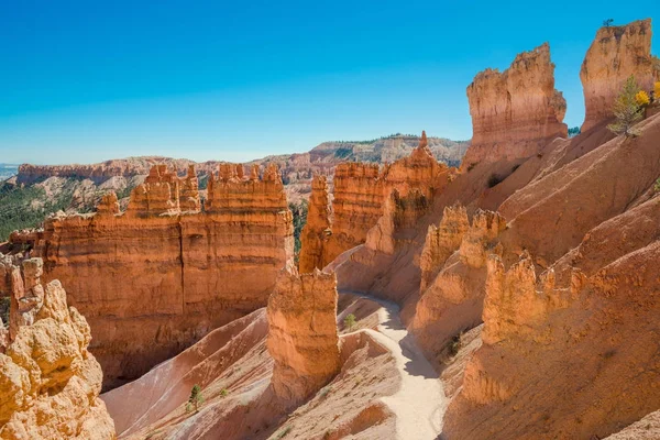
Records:
[[[307,274],[323,268],[328,263],[326,246],[332,233],[330,229],[330,200],[326,176],[315,176],[307,210],[307,223],[300,233],[299,271]]]

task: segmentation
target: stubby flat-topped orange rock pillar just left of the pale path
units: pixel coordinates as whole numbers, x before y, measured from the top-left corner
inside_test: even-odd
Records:
[[[295,406],[339,372],[337,277],[283,270],[268,299],[268,351],[275,396]]]

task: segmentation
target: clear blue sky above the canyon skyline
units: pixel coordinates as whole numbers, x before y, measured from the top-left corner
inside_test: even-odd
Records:
[[[0,162],[245,161],[422,129],[469,139],[474,75],[544,41],[579,125],[597,28],[648,16],[660,33],[657,0],[4,1]]]

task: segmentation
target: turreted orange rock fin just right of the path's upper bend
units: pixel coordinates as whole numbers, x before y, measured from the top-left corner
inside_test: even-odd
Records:
[[[420,258],[421,298],[410,330],[437,367],[450,340],[482,320],[487,255],[503,253],[505,229],[504,218],[493,211],[477,210],[470,224],[461,206],[444,208],[440,226],[429,228]]]

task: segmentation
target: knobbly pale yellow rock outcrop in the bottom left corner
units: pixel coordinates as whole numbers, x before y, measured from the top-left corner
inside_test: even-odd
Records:
[[[26,260],[23,274],[15,267],[12,276],[13,292],[38,292],[40,301],[29,319],[11,309],[19,327],[0,353],[0,439],[114,439],[114,425],[99,399],[101,367],[87,350],[89,326],[67,307],[58,280],[41,284],[41,260]]]

